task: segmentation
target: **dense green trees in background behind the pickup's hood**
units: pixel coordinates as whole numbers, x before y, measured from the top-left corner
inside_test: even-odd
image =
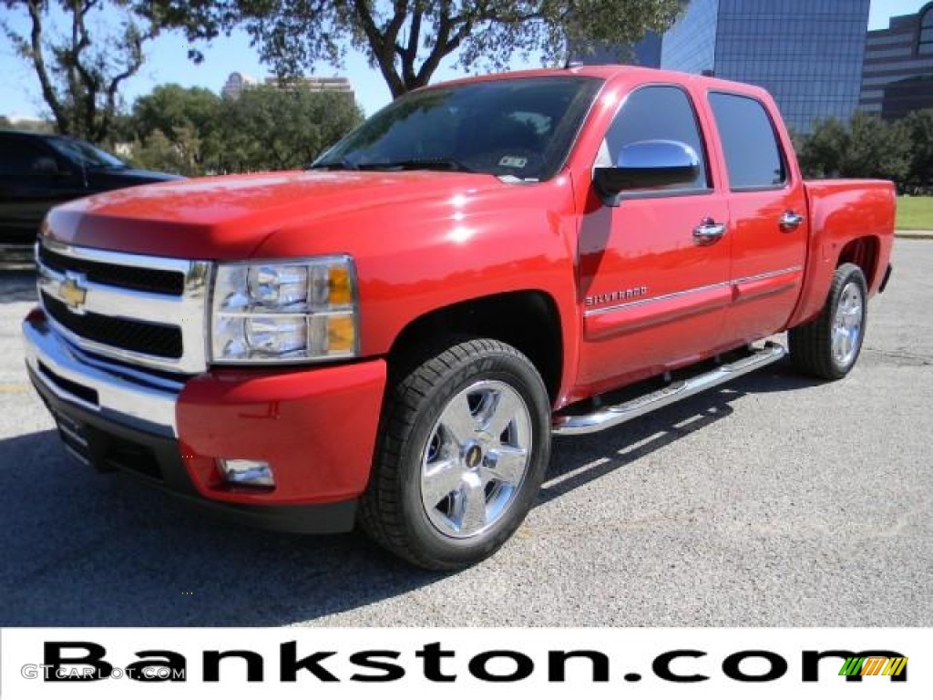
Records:
[[[300,168],[362,120],[350,93],[258,86],[221,99],[162,85],[136,100],[132,161],[181,175]]]

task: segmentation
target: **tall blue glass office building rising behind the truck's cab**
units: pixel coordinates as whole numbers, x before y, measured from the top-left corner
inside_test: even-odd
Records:
[[[759,85],[787,124],[848,120],[858,106],[870,0],[691,0],[661,67]]]

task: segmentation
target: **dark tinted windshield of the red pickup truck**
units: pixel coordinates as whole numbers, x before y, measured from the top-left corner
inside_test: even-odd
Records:
[[[524,77],[411,92],[311,167],[546,180],[564,163],[601,85],[592,77]]]

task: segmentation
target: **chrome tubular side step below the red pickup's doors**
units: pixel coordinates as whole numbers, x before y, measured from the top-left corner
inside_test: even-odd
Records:
[[[783,345],[769,341],[764,344],[763,348],[756,350],[748,357],[743,357],[728,365],[721,365],[713,371],[675,382],[645,396],[620,403],[618,406],[606,406],[583,415],[557,415],[554,417],[552,432],[555,435],[587,435],[608,427],[616,427],[646,413],[670,406],[681,399],[699,394],[713,386],[759,370],[777,362],[785,355],[787,355],[787,350]]]

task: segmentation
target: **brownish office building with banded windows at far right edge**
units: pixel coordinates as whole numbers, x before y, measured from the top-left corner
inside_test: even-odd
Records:
[[[859,108],[889,121],[933,108],[933,2],[869,32]]]

